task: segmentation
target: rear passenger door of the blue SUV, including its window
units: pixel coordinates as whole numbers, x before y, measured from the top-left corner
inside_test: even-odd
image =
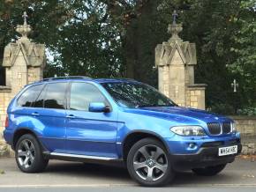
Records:
[[[50,152],[64,152],[68,83],[49,83],[31,108],[41,128],[41,143]]]

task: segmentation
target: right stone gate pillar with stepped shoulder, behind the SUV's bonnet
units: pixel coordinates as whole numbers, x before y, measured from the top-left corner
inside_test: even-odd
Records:
[[[159,90],[179,106],[205,109],[206,85],[194,84],[196,46],[178,36],[182,30],[176,22],[169,25],[172,37],[155,48]]]

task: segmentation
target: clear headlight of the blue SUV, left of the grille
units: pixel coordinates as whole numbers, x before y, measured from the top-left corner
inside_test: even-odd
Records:
[[[200,126],[177,126],[170,129],[179,136],[205,136],[205,130]]]

